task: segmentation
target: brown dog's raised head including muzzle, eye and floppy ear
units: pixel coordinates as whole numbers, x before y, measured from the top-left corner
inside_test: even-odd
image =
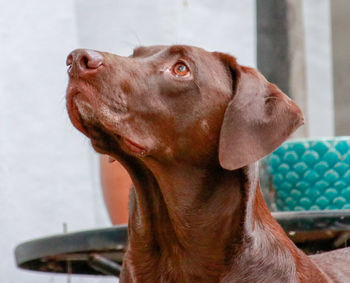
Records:
[[[129,57],[75,50],[67,108],[94,148],[159,162],[219,161],[234,170],[277,148],[300,109],[255,69],[191,46],[139,47]]]

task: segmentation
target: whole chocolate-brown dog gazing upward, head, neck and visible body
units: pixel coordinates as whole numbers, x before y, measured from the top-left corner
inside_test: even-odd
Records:
[[[121,282],[350,282],[350,249],[306,256],[262,198],[257,160],[303,117],[258,71],[190,46],[67,65],[73,124],[135,185]]]

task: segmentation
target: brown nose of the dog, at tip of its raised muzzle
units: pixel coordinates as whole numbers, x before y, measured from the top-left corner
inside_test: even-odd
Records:
[[[66,65],[69,75],[84,77],[97,72],[103,65],[103,56],[94,50],[76,49],[68,55]]]

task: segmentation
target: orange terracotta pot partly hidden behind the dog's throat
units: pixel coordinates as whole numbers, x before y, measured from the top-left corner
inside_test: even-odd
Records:
[[[129,216],[129,190],[131,179],[120,163],[108,162],[108,156],[100,157],[101,184],[105,204],[113,225],[125,224]]]

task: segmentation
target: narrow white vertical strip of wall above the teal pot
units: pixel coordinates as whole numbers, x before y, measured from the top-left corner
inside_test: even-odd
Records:
[[[308,121],[311,137],[334,135],[330,0],[304,0]]]

